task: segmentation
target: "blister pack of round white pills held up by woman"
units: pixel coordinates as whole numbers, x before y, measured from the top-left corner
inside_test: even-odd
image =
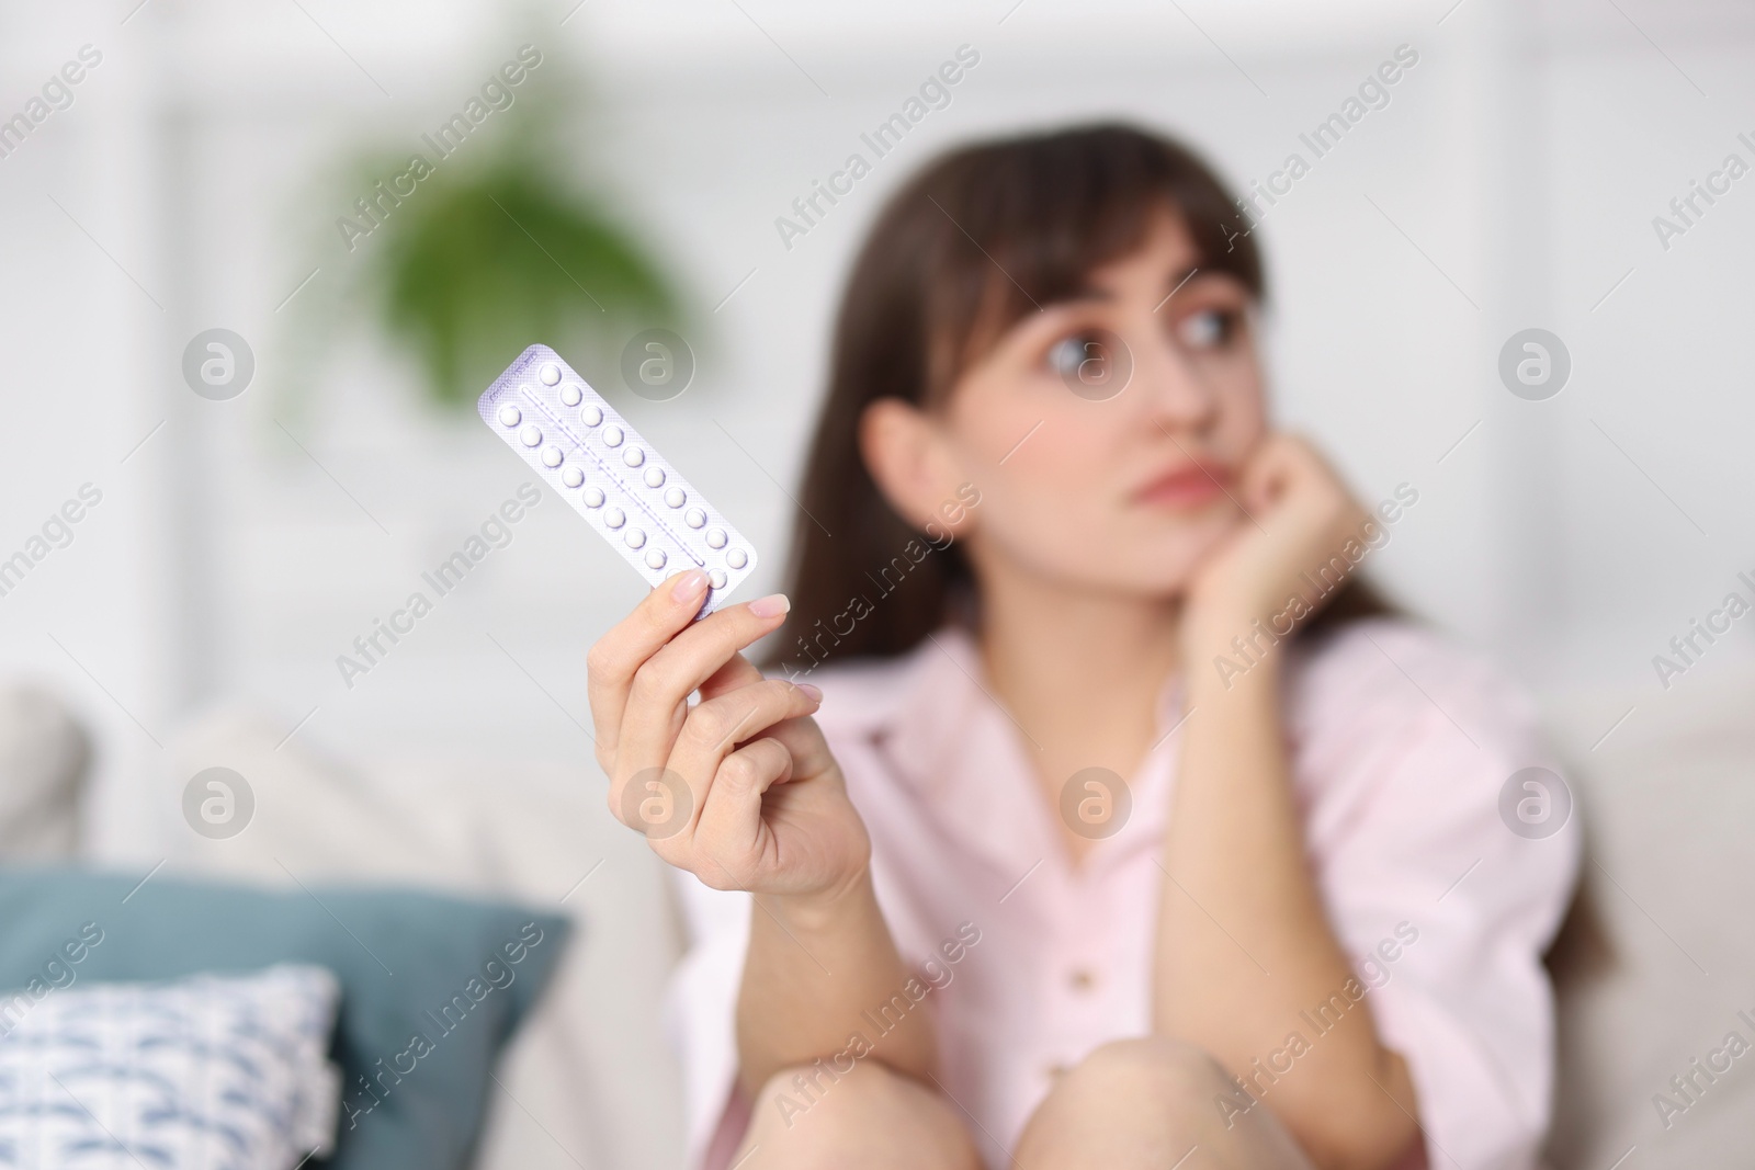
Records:
[[[755,572],[749,542],[548,346],[518,354],[476,405],[648,584],[706,570],[697,619]]]

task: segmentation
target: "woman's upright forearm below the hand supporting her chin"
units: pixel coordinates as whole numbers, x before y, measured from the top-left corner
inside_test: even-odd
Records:
[[[1318,1165],[1386,1165],[1413,1137],[1413,1086],[1364,1000],[1320,1035],[1300,1016],[1355,975],[1304,853],[1278,651],[1227,684],[1213,660],[1232,628],[1248,623],[1214,619],[1186,640],[1193,712],[1164,847],[1153,1021],[1253,1077]]]

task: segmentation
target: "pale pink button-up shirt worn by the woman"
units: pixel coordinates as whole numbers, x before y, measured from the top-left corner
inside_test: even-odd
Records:
[[[946,626],[907,654],[830,665],[811,681],[823,688],[818,723],[870,830],[897,945],[916,967],[935,960],[918,988],[932,988],[921,1002],[937,1016],[941,1079],[992,1137],[976,1131],[997,1168],[1007,1163],[997,1144],[1016,1144],[1057,1068],[1151,1028],[1157,858],[1181,684],[1160,695],[1169,735],[1127,777],[1127,823],[1076,870],[1028,747],[979,677],[974,642]],[[1513,772],[1558,770],[1530,700],[1479,658],[1395,619],[1295,642],[1281,677],[1306,845],[1330,923],[1371,988],[1364,1002],[1411,1068],[1430,1163],[1537,1165],[1553,1086],[1539,956],[1565,910],[1580,835],[1576,816],[1546,838],[1513,833],[1501,817]],[[751,907],[748,895],[676,875],[693,945],[669,1023],[684,1067],[690,1165],[706,1166],[748,1119],[732,1084]],[[965,942],[971,926],[979,942],[953,945],[949,963],[944,944]],[[1297,1024],[1306,1040],[1320,1033],[1316,1007],[1309,1026]],[[855,1026],[876,1037],[869,1021]],[[1262,1059],[1281,1070],[1295,1061]]]

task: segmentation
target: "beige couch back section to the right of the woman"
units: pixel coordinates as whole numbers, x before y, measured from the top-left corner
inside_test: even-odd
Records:
[[[1697,1081],[1692,1102],[1671,1079],[1704,1067],[1729,1031],[1755,1037],[1739,1014],[1755,1016],[1751,709],[1755,663],[1729,658],[1671,693],[1550,702],[1587,823],[1592,926],[1560,982],[1558,1166],[1750,1165],[1750,1058]],[[1687,1109],[1660,1110],[1657,1095]]]

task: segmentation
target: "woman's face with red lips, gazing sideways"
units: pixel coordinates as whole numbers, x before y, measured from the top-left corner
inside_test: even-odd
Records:
[[[983,577],[1171,596],[1246,523],[1236,475],[1265,432],[1253,305],[1195,258],[1165,210],[953,388],[939,440],[981,491],[963,547]]]

